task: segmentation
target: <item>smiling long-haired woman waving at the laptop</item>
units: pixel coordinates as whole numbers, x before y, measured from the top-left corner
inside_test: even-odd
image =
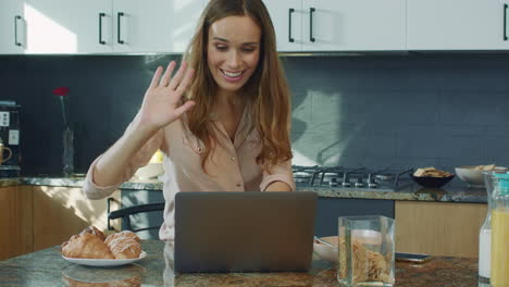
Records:
[[[173,77],[175,62],[157,68],[138,114],[84,185],[88,198],[104,198],[161,149],[162,240],[173,239],[178,191],[295,190],[288,88],[262,1],[210,1],[184,60]]]

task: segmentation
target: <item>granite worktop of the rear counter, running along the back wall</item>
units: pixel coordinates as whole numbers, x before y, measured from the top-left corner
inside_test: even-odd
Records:
[[[0,187],[15,185],[82,187],[84,177],[34,176],[0,179]],[[121,185],[121,189],[161,191],[162,182],[158,179],[129,180]],[[458,178],[442,188],[424,188],[414,183],[407,183],[397,191],[380,191],[376,189],[342,189],[334,187],[297,187],[298,191],[315,191],[321,198],[351,199],[385,199],[413,201],[442,201],[463,203],[486,203],[486,189],[472,188]]]

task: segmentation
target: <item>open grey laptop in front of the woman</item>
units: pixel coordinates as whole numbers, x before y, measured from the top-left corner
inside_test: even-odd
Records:
[[[315,192],[178,192],[175,271],[308,271]]]

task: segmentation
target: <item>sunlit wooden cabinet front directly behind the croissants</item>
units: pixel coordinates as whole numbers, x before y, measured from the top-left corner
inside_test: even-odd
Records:
[[[34,251],[61,245],[95,225],[108,228],[107,200],[90,200],[79,187],[34,186]],[[120,190],[111,197],[120,202]],[[115,204],[112,209],[117,209]]]

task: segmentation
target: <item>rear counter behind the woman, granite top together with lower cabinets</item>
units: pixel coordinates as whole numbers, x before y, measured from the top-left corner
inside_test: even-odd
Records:
[[[107,200],[87,199],[82,192],[83,183],[83,176],[0,179],[0,194],[5,198],[0,215],[18,226],[11,236],[0,237],[4,239],[0,244],[9,246],[0,249],[0,260],[58,245],[89,225],[107,229]],[[129,180],[111,196],[111,210],[162,202],[161,191],[159,180]],[[384,215],[398,223],[396,249],[400,252],[477,257],[479,229],[487,210],[486,190],[469,188],[458,178],[443,188],[423,188],[413,183],[397,191],[334,187],[298,187],[298,191],[318,194],[316,236],[337,234],[339,216]],[[149,214],[141,224],[156,226],[161,221],[160,215]],[[111,224],[119,229],[120,221]],[[7,225],[0,229],[7,230]],[[156,239],[157,232],[141,237]]]

